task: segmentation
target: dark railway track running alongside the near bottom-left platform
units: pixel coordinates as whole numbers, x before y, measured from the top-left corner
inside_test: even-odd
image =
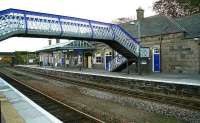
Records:
[[[104,123],[0,72],[0,77],[64,123]]]

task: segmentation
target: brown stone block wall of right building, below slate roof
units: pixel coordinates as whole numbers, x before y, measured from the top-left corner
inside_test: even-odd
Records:
[[[144,46],[161,49],[161,71],[199,73],[200,43],[184,38],[184,33],[142,38]],[[161,48],[160,48],[161,47]],[[151,53],[152,54],[152,53]],[[152,60],[150,60],[152,66]]]

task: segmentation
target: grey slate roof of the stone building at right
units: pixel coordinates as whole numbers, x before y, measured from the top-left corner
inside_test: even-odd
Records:
[[[137,21],[134,21],[137,23]],[[133,37],[138,37],[137,24],[131,22],[121,24]],[[160,34],[170,34],[183,32],[186,37],[200,37],[200,14],[172,19],[164,15],[155,15],[144,18],[140,21],[141,37],[156,36]]]

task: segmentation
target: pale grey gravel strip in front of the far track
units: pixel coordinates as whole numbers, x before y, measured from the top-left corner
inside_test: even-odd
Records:
[[[96,97],[99,99],[109,100],[120,103],[123,106],[136,107],[148,112],[155,112],[165,116],[174,116],[177,119],[185,120],[189,123],[200,123],[200,112],[171,106],[167,104],[161,104],[158,102],[145,101],[132,97],[119,96],[109,92],[102,92],[94,89],[88,89],[81,87],[81,93]]]

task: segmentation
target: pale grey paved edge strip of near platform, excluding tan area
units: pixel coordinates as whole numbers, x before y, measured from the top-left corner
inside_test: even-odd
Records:
[[[26,123],[62,123],[0,77],[0,94],[4,95]]]

